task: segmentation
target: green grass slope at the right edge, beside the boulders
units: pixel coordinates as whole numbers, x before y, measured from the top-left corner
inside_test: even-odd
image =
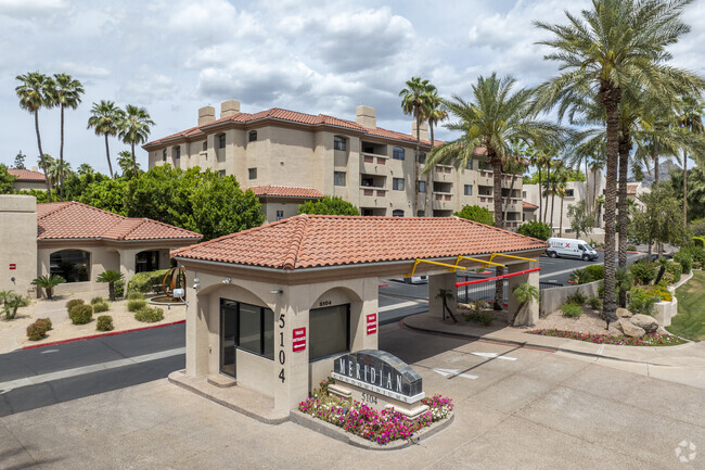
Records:
[[[693,278],[676,289],[678,315],[666,330],[693,341],[705,341],[705,271],[693,271]]]

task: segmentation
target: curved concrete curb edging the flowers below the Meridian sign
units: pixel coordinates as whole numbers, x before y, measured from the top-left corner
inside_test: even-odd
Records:
[[[354,447],[359,447],[367,450],[399,450],[406,447],[410,447],[421,440],[428,439],[437,432],[445,430],[456,420],[456,414],[451,411],[450,416],[447,419],[433,423],[428,428],[422,429],[414,434],[414,439],[411,441],[393,441],[389,444],[377,444],[373,441],[369,441],[367,439],[360,437],[359,435],[344,431],[343,428],[338,428],[335,424],[331,424],[330,422],[313,418],[310,415],[306,415],[298,409],[291,410],[289,417],[291,421],[295,422],[296,424],[303,425],[304,428],[308,428],[311,431],[316,431]]]

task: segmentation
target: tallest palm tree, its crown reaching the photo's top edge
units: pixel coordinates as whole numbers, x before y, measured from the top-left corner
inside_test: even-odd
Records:
[[[633,81],[651,90],[705,87],[697,75],[665,64],[666,48],[690,30],[680,15],[692,0],[593,0],[581,17],[566,12],[568,24],[535,25],[553,35],[539,43],[554,52],[546,60],[562,73],[539,87],[540,104],[561,103],[560,115],[573,109],[576,97],[591,90],[604,106],[607,183],[605,189],[605,277],[603,316],[616,318],[615,215],[619,147],[619,103],[623,85]]]

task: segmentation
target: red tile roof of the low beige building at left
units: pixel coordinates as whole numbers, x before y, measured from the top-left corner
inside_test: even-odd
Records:
[[[37,240],[183,240],[200,233],[149,218],[128,218],[79,202],[37,204]]]

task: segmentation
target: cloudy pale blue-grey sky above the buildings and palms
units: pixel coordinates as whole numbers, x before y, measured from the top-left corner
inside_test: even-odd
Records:
[[[15,77],[68,73],[86,89],[66,115],[65,155],[74,168],[106,173],[104,140],[86,125],[91,103],[148,109],[151,139],[196,124],[197,109],[238,99],[242,111],[284,107],[355,119],[376,109],[377,125],[410,132],[398,93],[418,75],[441,96],[467,97],[478,75],[511,74],[533,86],[555,73],[535,42],[534,20],[564,23],[585,0],[0,0],[0,163],[38,155],[31,115]],[[438,8],[440,7],[440,8]],[[705,2],[688,8],[692,31],[674,63],[705,74]],[[59,111],[39,116],[46,153],[59,156]],[[445,129],[439,138],[452,137]],[[111,153],[127,149],[111,141]],[[143,166],[146,153],[138,156]]]

